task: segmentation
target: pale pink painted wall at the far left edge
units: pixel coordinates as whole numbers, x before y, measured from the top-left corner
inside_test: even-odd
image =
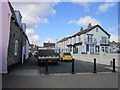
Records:
[[[10,19],[11,19],[11,11],[8,5],[8,1],[2,2],[0,8],[0,22],[2,25],[2,32],[0,33],[0,38],[2,39],[2,43],[0,45],[0,51],[2,51],[2,71],[0,73],[7,73],[7,56],[8,56],[8,44],[9,44],[9,34],[10,34]],[[0,57],[1,58],[1,57]],[[1,63],[1,62],[0,62]]]

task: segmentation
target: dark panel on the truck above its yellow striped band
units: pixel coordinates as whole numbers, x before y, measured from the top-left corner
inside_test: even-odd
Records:
[[[54,50],[39,50],[39,56],[59,56],[59,53],[56,53]]]

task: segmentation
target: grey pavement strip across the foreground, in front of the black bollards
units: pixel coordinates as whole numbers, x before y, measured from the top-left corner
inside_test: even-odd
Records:
[[[3,88],[118,88],[118,74],[3,75]]]

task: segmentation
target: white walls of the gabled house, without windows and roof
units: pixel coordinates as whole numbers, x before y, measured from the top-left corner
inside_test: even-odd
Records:
[[[98,28],[98,32],[96,32],[96,28]],[[85,34],[81,34],[80,36],[76,36],[76,40],[74,39],[74,37],[72,37],[72,38],[69,38],[67,41],[57,43],[56,47],[59,47],[61,50],[64,49],[64,52],[65,52],[65,50],[68,49],[67,45],[68,44],[74,45],[75,43],[78,43],[79,42],[78,38],[80,37],[80,39],[82,41],[81,50],[82,50],[82,52],[86,52],[85,38],[87,38],[87,34],[93,34],[93,38],[97,40],[97,44],[96,45],[100,45],[101,37],[103,37],[103,36],[107,37],[107,38],[109,37],[99,27],[96,27],[96,28],[92,29],[91,31],[89,31],[89,32],[87,32]],[[72,40],[72,42],[71,42],[70,39]],[[109,41],[109,38],[108,38],[108,41]],[[100,47],[100,51],[101,51],[101,47]]]

